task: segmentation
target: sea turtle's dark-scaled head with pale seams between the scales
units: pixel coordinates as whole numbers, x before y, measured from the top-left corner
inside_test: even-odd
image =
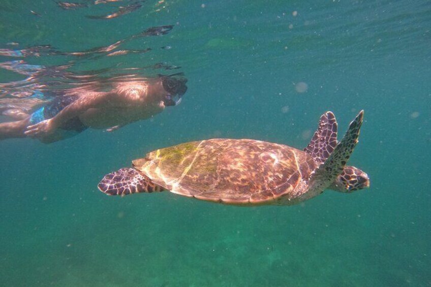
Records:
[[[370,178],[365,172],[352,166],[346,166],[329,186],[330,189],[341,193],[353,193],[365,187],[370,187]]]

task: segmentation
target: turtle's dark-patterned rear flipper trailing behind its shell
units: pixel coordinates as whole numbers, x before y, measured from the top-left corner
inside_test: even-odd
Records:
[[[122,168],[105,175],[98,187],[102,193],[120,196],[163,191],[160,185],[153,183],[147,176],[131,168]]]

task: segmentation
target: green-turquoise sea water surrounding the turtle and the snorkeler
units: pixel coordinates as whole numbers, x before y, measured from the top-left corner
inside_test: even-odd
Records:
[[[124,47],[148,53],[83,59],[72,70],[166,62],[181,67],[173,73],[186,75],[189,90],[181,105],[114,133],[0,142],[0,285],[431,285],[428,1],[147,1],[109,20],[85,15],[127,3],[82,3],[3,0],[0,48],[83,51],[174,25]],[[24,78],[0,70],[0,82]],[[342,134],[361,109],[349,163],[371,188],[354,194],[241,208],[97,189],[103,175],[156,148],[213,137],[303,148],[323,112],[335,113]]]

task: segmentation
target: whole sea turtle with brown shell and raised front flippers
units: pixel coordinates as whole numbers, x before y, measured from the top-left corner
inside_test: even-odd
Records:
[[[170,190],[174,194],[231,205],[293,205],[330,188],[351,193],[370,185],[368,175],[346,166],[358,142],[363,111],[337,142],[337,123],[324,113],[304,148],[250,139],[210,139],[149,152],[133,168],[105,175],[108,195]]]

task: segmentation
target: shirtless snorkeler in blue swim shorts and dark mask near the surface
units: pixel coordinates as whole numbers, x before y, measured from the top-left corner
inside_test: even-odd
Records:
[[[9,113],[20,120],[0,123],[0,140],[30,137],[52,143],[88,128],[111,132],[178,105],[187,91],[186,82],[182,77],[161,77],[121,82],[107,92],[70,89],[31,115]]]

